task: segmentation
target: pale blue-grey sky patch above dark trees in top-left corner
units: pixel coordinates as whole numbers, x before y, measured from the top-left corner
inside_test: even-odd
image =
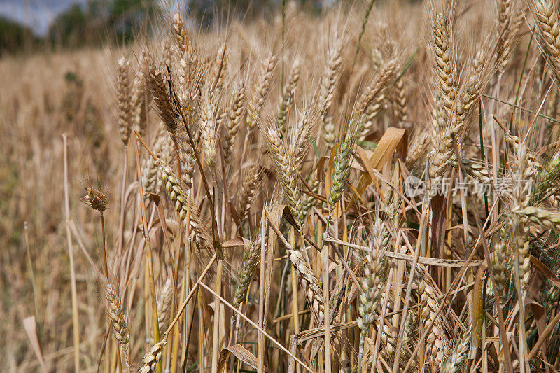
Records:
[[[38,35],[48,30],[52,19],[73,3],[86,0],[0,0],[0,15],[25,24]]]

